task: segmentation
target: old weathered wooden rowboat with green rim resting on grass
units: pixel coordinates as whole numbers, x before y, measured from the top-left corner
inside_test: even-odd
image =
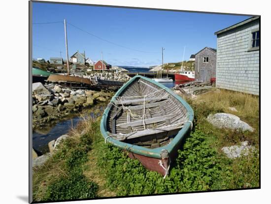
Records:
[[[112,97],[102,115],[101,132],[105,142],[166,176],[193,118],[192,108],[180,96],[139,75]]]

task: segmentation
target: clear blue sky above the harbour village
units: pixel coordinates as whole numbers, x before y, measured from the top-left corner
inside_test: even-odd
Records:
[[[152,66],[184,60],[204,47],[216,48],[215,31],[250,16],[203,14],[83,5],[33,3],[33,58],[66,58],[63,22],[67,25],[69,57],[77,50],[112,65]],[[121,47],[123,46],[123,47]],[[124,47],[130,48],[126,49]],[[141,52],[138,52],[138,51]]]

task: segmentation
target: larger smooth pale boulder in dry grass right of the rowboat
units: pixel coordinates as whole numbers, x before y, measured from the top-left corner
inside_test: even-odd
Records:
[[[214,115],[210,114],[207,117],[207,121],[218,128],[229,128],[233,130],[242,130],[250,132],[254,131],[254,129],[251,126],[249,126],[246,122],[240,120],[239,117],[233,114],[226,113],[217,113]]]

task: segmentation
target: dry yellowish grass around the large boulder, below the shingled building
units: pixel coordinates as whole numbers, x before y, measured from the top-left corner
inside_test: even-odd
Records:
[[[196,100],[187,99],[195,112],[196,124],[205,133],[212,133],[208,140],[211,146],[220,149],[223,146],[236,145],[247,140],[259,147],[259,97],[230,90],[216,90],[200,95]],[[237,112],[229,110],[234,107]],[[247,122],[255,131],[240,132],[220,130],[207,122],[206,117],[214,113],[230,113]]]

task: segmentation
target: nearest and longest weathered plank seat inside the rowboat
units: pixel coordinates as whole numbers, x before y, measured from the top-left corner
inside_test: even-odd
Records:
[[[114,138],[115,140],[118,141],[124,141],[124,140],[129,140],[133,138],[139,138],[139,137],[144,137],[148,135],[153,135],[153,134],[159,134],[165,131],[171,131],[171,130],[178,130],[181,129],[184,125],[183,124],[173,124],[173,125],[168,125],[165,127],[160,127],[160,128],[151,128],[151,129],[146,129],[146,130],[141,130],[141,131],[135,131],[132,133],[127,133],[127,134],[111,134],[110,137]]]

